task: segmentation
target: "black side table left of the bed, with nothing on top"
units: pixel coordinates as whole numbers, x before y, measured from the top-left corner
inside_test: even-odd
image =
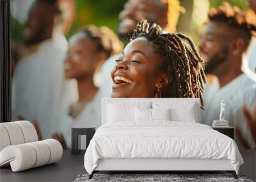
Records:
[[[95,133],[95,126],[83,126],[76,125],[72,126],[72,135],[71,135],[71,153],[79,154],[81,153],[81,137],[86,135],[86,148],[88,147],[90,140]]]

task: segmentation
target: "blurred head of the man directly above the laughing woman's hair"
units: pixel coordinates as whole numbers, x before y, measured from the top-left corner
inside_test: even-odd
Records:
[[[164,31],[173,33],[176,31],[180,11],[182,8],[179,1],[128,0],[118,15],[118,36],[129,41],[136,25],[143,19],[147,19],[150,24],[158,23]]]

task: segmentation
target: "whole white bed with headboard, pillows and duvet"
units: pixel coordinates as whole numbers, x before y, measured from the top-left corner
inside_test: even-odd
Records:
[[[102,99],[102,126],[84,155],[90,178],[97,171],[230,171],[237,178],[242,163],[234,140],[200,124],[196,98]]]

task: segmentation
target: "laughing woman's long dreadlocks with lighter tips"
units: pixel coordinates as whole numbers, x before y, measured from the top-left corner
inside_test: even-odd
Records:
[[[163,33],[156,24],[150,27],[147,20],[137,25],[132,40],[140,36],[152,42],[156,53],[163,57],[160,71],[171,80],[170,93],[166,97],[200,98],[204,108],[204,59],[199,56],[191,38],[182,33]]]

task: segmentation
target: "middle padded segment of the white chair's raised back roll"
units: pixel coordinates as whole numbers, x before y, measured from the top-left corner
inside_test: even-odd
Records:
[[[10,137],[11,145],[24,144],[24,135],[20,126],[15,122],[0,123],[0,125],[6,128],[6,132]]]

